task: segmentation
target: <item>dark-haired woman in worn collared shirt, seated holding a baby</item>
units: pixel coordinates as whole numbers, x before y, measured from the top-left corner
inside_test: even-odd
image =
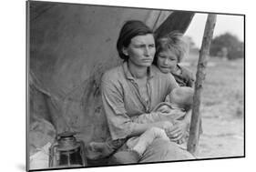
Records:
[[[132,122],[136,116],[149,114],[178,86],[173,76],[163,74],[156,66],[151,66],[156,53],[152,31],[140,21],[128,21],[120,31],[117,49],[119,57],[124,60],[123,65],[110,69],[102,76],[102,100],[112,140],[139,136],[152,126],[172,126],[169,122]],[[171,133],[167,135],[174,137]],[[175,157],[176,154],[180,156]],[[126,155],[128,152],[118,152],[114,159],[118,160],[117,163],[129,163]],[[157,139],[139,162],[189,157],[187,152],[182,152],[174,143]]]

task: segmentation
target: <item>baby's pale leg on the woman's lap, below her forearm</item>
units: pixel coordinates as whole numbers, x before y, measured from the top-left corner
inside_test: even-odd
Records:
[[[146,130],[140,137],[138,137],[137,144],[132,147],[132,150],[138,152],[139,156],[141,156],[146,148],[154,141],[156,138],[162,138],[165,140],[169,140],[165,131],[159,127],[151,127]]]

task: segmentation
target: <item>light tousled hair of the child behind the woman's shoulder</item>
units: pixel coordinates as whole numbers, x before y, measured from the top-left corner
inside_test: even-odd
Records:
[[[168,35],[164,35],[156,41],[156,55],[153,64],[157,65],[159,53],[165,50],[175,53],[178,63],[180,63],[188,52],[188,49],[189,45],[181,33],[178,31],[170,32]]]

